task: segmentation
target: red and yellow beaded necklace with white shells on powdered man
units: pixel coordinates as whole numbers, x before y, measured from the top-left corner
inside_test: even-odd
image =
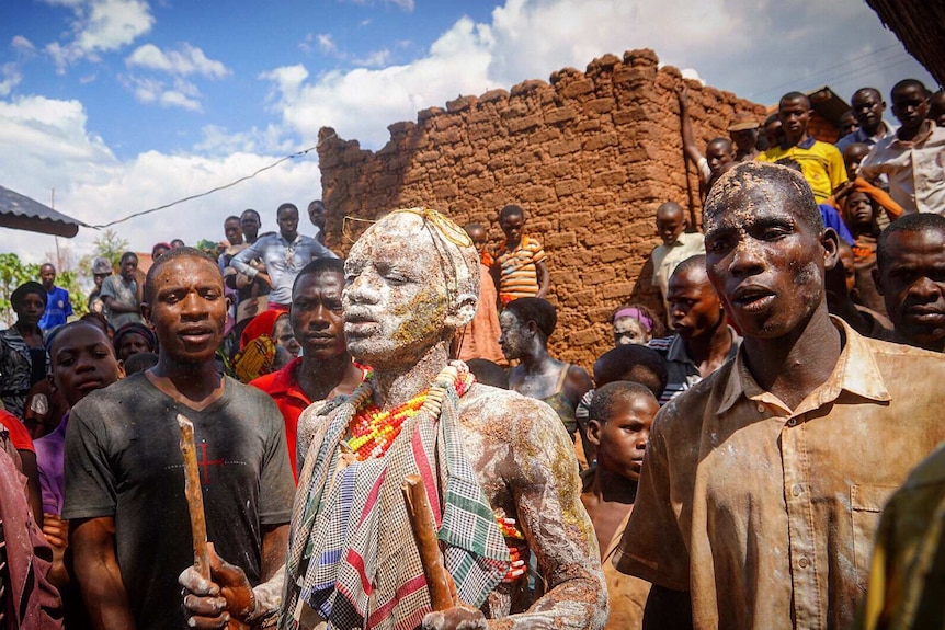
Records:
[[[421,411],[429,411],[439,417],[446,387],[452,383],[456,388],[456,394],[463,396],[475,381],[476,377],[469,373],[469,368],[457,362],[443,368],[434,380],[433,387],[423,390],[403,404],[382,411],[371,402],[374,388],[368,377],[360,388],[362,391],[355,393],[358,401],[357,411],[351,419],[351,439],[348,440],[348,447],[358,461],[383,457],[400,435],[406,420]]]

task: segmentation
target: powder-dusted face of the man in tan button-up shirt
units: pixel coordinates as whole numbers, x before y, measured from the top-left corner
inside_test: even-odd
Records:
[[[709,279],[745,336],[776,339],[804,325],[823,301],[824,264],[836,251],[835,234],[821,239],[801,221],[794,191],[782,186],[742,186],[705,224]]]

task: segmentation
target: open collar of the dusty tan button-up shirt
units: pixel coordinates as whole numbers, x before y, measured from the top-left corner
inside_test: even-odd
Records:
[[[840,353],[836,365],[833,366],[830,378],[808,394],[800,405],[792,412],[795,415],[836,400],[844,390],[878,402],[888,401],[892,398],[883,381],[883,374],[879,371],[879,366],[876,365],[868,342],[842,319],[830,316],[830,320],[845,337],[846,343]],[[748,369],[744,353],[745,347],[742,345],[729,373],[728,381],[725,383],[721,402],[716,414],[727,412],[742,396],[750,400],[785,406],[783,402],[777,400],[777,397],[758,385]]]

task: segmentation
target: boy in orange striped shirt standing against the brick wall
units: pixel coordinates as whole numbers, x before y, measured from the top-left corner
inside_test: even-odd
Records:
[[[525,210],[505,206],[499,211],[499,227],[505,233],[496,255],[502,306],[517,298],[544,298],[548,293],[545,249],[537,239],[525,236]]]

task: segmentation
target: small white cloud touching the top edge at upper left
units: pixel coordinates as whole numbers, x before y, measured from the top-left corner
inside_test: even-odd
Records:
[[[98,61],[100,53],[118,50],[151,30],[155,18],[145,0],[46,0],[73,13],[72,38],[52,42],[45,51],[57,71],[82,59]]]

